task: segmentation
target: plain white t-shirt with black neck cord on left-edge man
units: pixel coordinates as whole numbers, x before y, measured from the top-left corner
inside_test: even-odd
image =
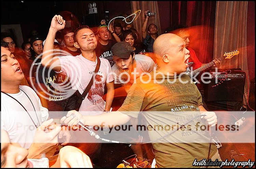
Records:
[[[22,90],[9,95],[24,106],[35,125],[39,127],[43,121],[47,120],[48,109],[42,106],[40,98],[33,89],[28,86],[19,86],[19,88],[28,95],[32,104]],[[10,96],[1,93],[1,129],[8,132],[11,142],[19,143],[20,146],[28,149],[33,142],[37,128],[26,110]]]

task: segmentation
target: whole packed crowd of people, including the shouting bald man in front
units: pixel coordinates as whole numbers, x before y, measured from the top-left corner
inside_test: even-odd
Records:
[[[74,130],[79,122],[100,136],[96,126],[136,126],[141,114],[147,126],[183,124],[196,116],[191,124],[217,124],[216,114],[204,108],[197,86],[184,74],[188,62],[194,62],[194,69],[205,64],[188,47],[188,28],[179,25],[158,35],[144,14],[142,33],[122,22],[108,27],[104,20],[94,33],[88,26],[65,27],[65,19],[55,15],[46,39],[33,31],[20,53],[13,35],[1,33],[1,167],[93,167],[101,143],[86,130]],[[214,66],[220,63],[213,61]],[[63,113],[69,99],[63,86],[82,94],[92,77],[79,111]],[[118,89],[126,98],[114,108]],[[109,132],[105,138],[141,143],[140,133],[131,130]],[[148,136],[152,141],[169,132],[155,129]],[[180,130],[152,143],[156,166],[192,167],[194,159],[207,156],[221,161],[208,131],[192,133],[183,137]],[[145,161],[140,144],[130,147],[137,163]]]

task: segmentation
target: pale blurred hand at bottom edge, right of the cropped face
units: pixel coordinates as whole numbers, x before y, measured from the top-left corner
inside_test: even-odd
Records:
[[[90,158],[73,146],[62,147],[54,168],[93,168]]]

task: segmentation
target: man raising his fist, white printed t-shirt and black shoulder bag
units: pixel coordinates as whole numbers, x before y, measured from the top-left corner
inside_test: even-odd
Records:
[[[65,20],[60,15],[55,15],[51,22],[51,27],[47,35],[43,56],[42,65],[56,72],[63,72],[70,78],[71,87],[78,90],[80,94],[88,86],[91,77],[97,65],[97,56],[95,49],[97,39],[88,26],[80,26],[74,32],[74,46],[82,52],[77,56],[53,57],[52,49],[56,32],[64,29]],[[91,89],[82,101],[79,112],[84,115],[99,115],[103,112],[109,112],[114,97],[114,82],[111,72],[111,66],[108,60],[100,58],[100,68]],[[106,94],[106,102],[102,96],[104,94],[104,86],[108,89]],[[75,132],[77,136],[77,144],[74,145],[88,156],[95,154],[95,151],[100,151],[100,145],[94,137],[89,135],[89,132]],[[78,133],[78,134],[77,134]],[[88,144],[85,144],[88,143]],[[99,152],[98,152],[99,153]]]

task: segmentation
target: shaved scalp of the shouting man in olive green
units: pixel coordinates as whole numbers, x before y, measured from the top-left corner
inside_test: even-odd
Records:
[[[153,44],[153,52],[157,58],[162,58],[163,55],[167,54],[171,50],[172,39],[175,37],[179,36],[168,33],[162,34],[156,38]]]

